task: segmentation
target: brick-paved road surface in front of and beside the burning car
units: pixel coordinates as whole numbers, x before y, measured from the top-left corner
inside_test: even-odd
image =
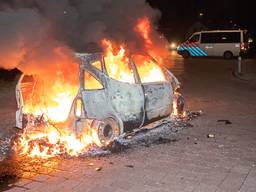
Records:
[[[232,75],[236,60],[184,61],[172,53],[168,68],[182,82],[186,109],[203,111],[192,128],[178,133],[176,142],[58,160],[56,168],[33,179],[24,177],[8,191],[255,192],[256,61],[243,61],[245,80]],[[5,91],[1,99],[11,94]],[[7,105],[1,106],[1,119],[12,106]]]

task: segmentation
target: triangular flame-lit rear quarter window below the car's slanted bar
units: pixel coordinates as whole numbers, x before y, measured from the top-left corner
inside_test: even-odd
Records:
[[[103,89],[103,85],[88,71],[84,71],[84,88],[85,90]]]

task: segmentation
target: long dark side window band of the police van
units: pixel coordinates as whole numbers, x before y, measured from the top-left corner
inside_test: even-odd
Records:
[[[240,43],[240,32],[202,33],[201,43]]]

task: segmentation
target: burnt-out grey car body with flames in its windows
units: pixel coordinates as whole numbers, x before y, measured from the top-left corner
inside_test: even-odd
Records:
[[[101,53],[78,53],[76,57],[80,61],[79,91],[65,127],[77,135],[93,129],[101,144],[107,145],[125,132],[170,115],[173,103],[178,103],[179,109],[183,108],[181,96],[176,96],[180,84],[171,72],[158,66],[157,73],[145,74],[142,67],[136,64],[136,60],[146,57],[157,66],[150,56],[131,56],[127,61],[128,73],[121,75],[122,78],[113,75],[120,69],[113,71]],[[23,75],[17,84],[18,128],[40,124],[43,119],[43,115],[34,116],[23,110],[27,100],[25,95],[33,95],[35,79]]]

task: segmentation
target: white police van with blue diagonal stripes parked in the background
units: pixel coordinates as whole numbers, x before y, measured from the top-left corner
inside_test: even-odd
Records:
[[[194,33],[177,47],[184,58],[217,56],[230,59],[248,50],[245,30],[217,30]]]

